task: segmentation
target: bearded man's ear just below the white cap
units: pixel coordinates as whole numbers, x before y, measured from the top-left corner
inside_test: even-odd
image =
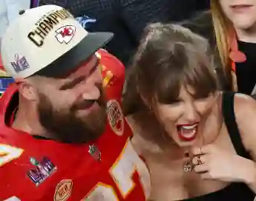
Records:
[[[28,101],[38,101],[38,92],[35,84],[29,79],[16,81],[19,86],[19,93]]]

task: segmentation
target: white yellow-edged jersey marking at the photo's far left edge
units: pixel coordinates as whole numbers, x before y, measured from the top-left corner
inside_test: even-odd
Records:
[[[0,167],[4,166],[5,163],[9,163],[10,161],[20,157],[23,151],[23,149],[8,146],[6,144],[0,144]]]

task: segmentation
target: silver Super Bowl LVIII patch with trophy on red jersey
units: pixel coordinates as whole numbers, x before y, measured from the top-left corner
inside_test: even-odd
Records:
[[[36,167],[30,169],[27,176],[36,186],[44,182],[47,177],[50,177],[57,170],[57,167],[47,157],[43,157],[40,163],[34,157],[30,157],[30,163]]]

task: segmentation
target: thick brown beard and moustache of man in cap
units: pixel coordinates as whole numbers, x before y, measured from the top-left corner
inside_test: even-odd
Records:
[[[47,136],[62,143],[88,143],[96,140],[105,130],[107,123],[106,103],[102,95],[95,101],[82,101],[69,109],[54,109],[50,100],[40,94],[38,105],[39,120],[47,132]],[[85,117],[77,117],[78,109],[98,103]]]

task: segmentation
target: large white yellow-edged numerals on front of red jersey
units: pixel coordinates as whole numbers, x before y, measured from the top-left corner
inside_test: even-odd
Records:
[[[123,199],[131,193],[136,185],[133,180],[136,171],[140,175],[140,183],[144,188],[145,197],[148,197],[150,180],[147,168],[128,140],[116,163],[109,170]],[[84,200],[119,201],[114,188],[104,183],[98,183]]]

